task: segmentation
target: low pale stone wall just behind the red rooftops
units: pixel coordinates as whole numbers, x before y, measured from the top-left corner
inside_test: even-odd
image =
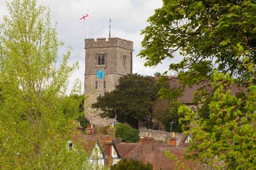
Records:
[[[140,138],[142,137],[147,137],[151,135],[154,140],[161,140],[161,141],[166,141],[166,139],[168,137],[171,137],[172,134],[170,132],[166,132],[166,131],[159,131],[159,130],[150,130],[150,129],[146,129],[146,128],[139,128],[139,136]],[[180,140],[183,136],[183,133],[176,133],[175,137],[177,138],[177,142],[176,145],[178,146],[180,143]]]

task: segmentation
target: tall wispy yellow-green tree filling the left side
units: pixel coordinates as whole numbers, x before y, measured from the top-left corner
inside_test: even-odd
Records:
[[[57,63],[63,43],[48,8],[37,7],[35,0],[15,0],[7,7],[9,15],[0,23],[0,168],[85,167],[83,148],[69,151],[67,143],[76,134],[72,120],[78,107],[63,109],[77,63],[68,65],[70,50]]]

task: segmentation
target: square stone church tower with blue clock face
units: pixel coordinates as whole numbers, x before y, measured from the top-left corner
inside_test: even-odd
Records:
[[[100,95],[115,89],[118,79],[132,73],[133,42],[121,38],[85,39],[85,116],[91,124],[109,125],[110,119],[102,119],[90,108]]]

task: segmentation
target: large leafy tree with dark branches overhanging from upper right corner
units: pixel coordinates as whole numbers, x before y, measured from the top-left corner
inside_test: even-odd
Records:
[[[214,69],[247,85],[256,64],[255,1],[163,1],[143,31],[145,48],[139,53],[146,66],[155,66],[180,53],[170,64],[184,84],[210,80]],[[255,83],[255,79],[254,79]]]

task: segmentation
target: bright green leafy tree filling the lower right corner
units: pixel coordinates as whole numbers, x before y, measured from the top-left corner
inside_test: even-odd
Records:
[[[254,169],[256,142],[256,86],[248,87],[246,102],[230,94],[226,87],[233,84],[228,74],[215,72],[212,86],[216,89],[208,105],[208,117],[197,119],[196,113],[182,106],[179,113],[185,114],[190,124],[193,142],[185,157],[222,169]]]

